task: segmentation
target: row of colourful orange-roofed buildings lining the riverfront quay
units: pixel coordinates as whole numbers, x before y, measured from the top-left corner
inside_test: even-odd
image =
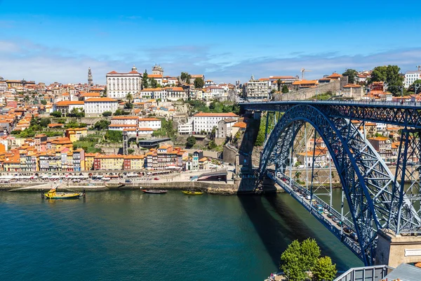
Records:
[[[40,151],[36,143],[45,136],[28,139],[19,148],[5,151],[0,144],[0,164],[4,171],[90,171],[90,170],[168,170],[208,169],[210,159],[201,150],[191,156],[186,150],[173,145],[151,148],[144,155],[102,155],[74,150],[69,138],[47,141],[46,150]]]

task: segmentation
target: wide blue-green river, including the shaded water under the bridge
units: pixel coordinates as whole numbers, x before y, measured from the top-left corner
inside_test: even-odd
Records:
[[[340,190],[334,190],[335,201]],[[339,270],[361,261],[287,194],[0,192],[0,280],[263,280],[314,237]]]

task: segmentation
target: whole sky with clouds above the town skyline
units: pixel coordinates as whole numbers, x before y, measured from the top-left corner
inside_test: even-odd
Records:
[[[116,70],[234,83],[421,65],[419,1],[0,0],[0,76],[94,82]]]

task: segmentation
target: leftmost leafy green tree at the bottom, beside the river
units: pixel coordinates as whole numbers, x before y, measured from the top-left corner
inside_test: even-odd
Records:
[[[298,240],[294,240],[288,245],[285,251],[281,255],[281,266],[288,280],[302,281],[307,276],[301,265],[301,245]]]

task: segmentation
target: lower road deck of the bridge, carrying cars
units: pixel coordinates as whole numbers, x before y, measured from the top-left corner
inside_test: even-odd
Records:
[[[278,172],[279,173],[279,172]],[[317,210],[317,205],[320,204],[323,209],[327,210],[328,213],[333,214],[334,218],[337,218],[339,221],[341,220],[341,215],[338,211],[330,207],[326,202],[323,202],[317,195],[311,195],[309,190],[304,186],[300,185],[296,181],[292,180],[286,176],[286,174],[280,173],[282,178],[286,178],[286,181],[283,181],[282,178],[279,178],[275,175],[274,171],[267,170],[267,176],[275,181],[283,190],[288,192],[289,195],[294,197],[307,211],[310,212],[317,220],[323,223],[330,233],[333,233],[342,243],[344,243],[356,256],[360,259],[361,257],[361,248],[359,243],[349,237],[344,231],[343,227],[347,226],[352,230],[352,233],[355,233],[354,223],[349,221],[347,218],[343,218],[342,226],[338,226],[337,223],[333,221],[333,218],[328,218],[328,214],[323,212],[323,214],[319,214]],[[310,197],[310,198],[309,198]],[[314,200],[314,201],[313,201]],[[316,202],[316,204],[312,204],[312,202]]]

